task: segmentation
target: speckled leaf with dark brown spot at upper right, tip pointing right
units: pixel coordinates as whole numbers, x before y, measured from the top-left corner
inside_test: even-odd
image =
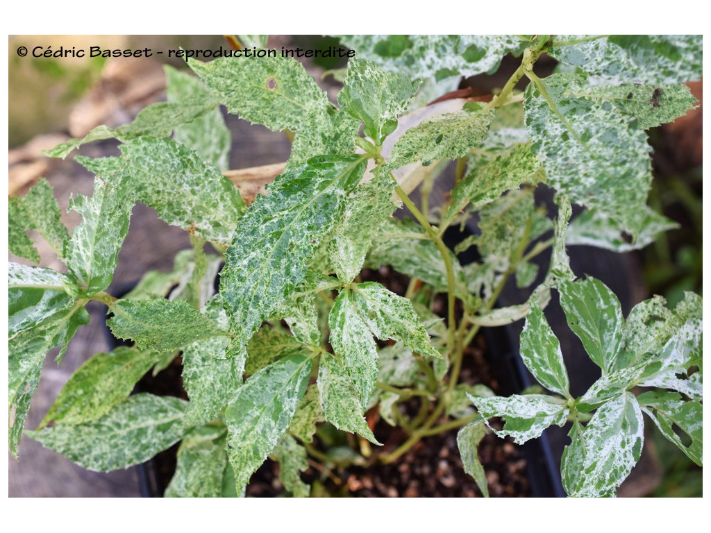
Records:
[[[683,117],[696,103],[685,85],[597,85],[588,83],[574,87],[577,98],[604,100],[630,117],[637,119],[637,127],[650,129]]]

